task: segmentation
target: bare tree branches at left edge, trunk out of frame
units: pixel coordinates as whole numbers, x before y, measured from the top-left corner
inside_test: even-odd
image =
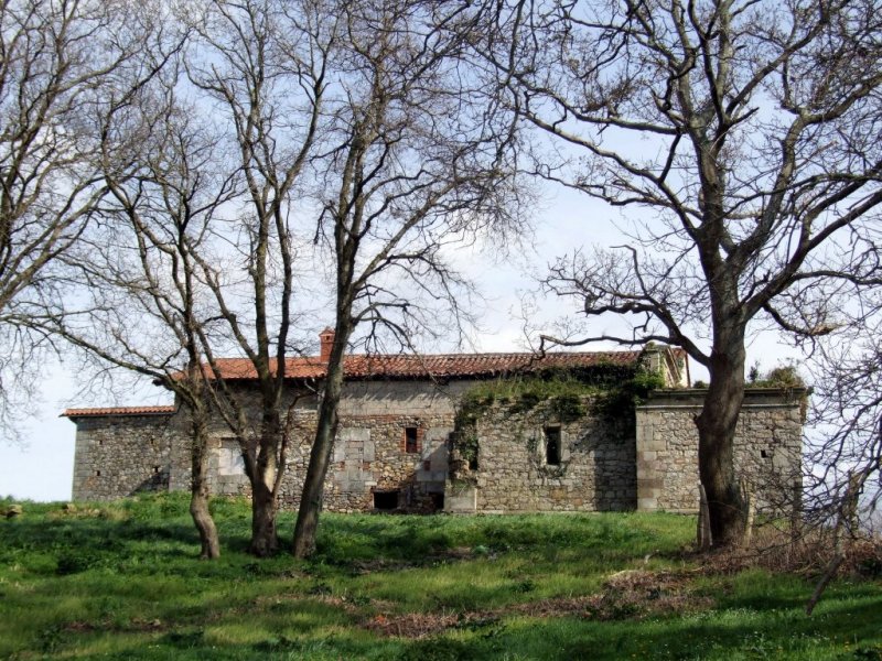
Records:
[[[155,9],[155,8],[153,8]],[[32,304],[57,301],[54,266],[106,193],[96,118],[162,66],[170,44],[141,6],[97,0],[0,4],[0,416],[34,377],[43,336]],[[15,355],[23,358],[17,362]],[[9,370],[9,371],[8,371]],[[14,387],[3,377],[12,379]]]

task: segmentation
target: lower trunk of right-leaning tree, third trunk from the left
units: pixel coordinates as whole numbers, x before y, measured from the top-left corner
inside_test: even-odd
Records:
[[[295,557],[309,557],[315,552],[315,530],[319,527],[319,513],[322,509],[324,478],[334,449],[334,436],[337,431],[337,405],[343,389],[343,356],[348,333],[337,327],[334,346],[327,361],[322,404],[319,408],[319,423],[315,430],[315,442],[310,453],[310,465],[303,480],[303,494],[294,527]]]

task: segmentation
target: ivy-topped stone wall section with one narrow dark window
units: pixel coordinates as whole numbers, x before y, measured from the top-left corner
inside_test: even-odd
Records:
[[[610,511],[637,503],[634,426],[622,418],[591,413],[561,420],[552,407],[529,411],[494,404],[473,431],[477,467],[456,460],[448,484],[449,511]],[[462,431],[458,431],[462,433]],[[549,457],[549,438],[559,443]],[[559,441],[556,441],[558,440]]]

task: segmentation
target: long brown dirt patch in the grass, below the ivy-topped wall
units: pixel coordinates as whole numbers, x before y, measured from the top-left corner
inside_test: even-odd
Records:
[[[710,597],[692,594],[690,577],[668,572],[627,571],[613,574],[603,590],[583,597],[541,599],[493,610],[461,613],[380,613],[363,627],[381,636],[423,638],[449,629],[492,626],[510,615],[581,617],[585,619],[642,619],[709,608]],[[378,606],[378,604],[374,604]]]

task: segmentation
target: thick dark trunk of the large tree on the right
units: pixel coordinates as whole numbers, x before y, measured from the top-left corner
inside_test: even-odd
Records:
[[[698,469],[708,495],[714,546],[738,544],[745,508],[734,467],[735,425],[744,401],[743,334],[733,333],[711,355],[710,383],[698,426]]]

